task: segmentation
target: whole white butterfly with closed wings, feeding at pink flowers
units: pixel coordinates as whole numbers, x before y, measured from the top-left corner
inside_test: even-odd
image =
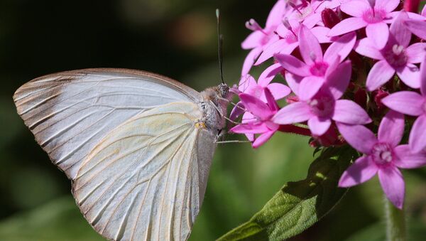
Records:
[[[38,144],[109,240],[187,240],[224,128],[229,87],[197,92],[138,70],[39,77],[13,96]]]

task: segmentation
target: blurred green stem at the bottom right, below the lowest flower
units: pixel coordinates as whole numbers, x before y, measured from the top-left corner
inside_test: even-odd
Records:
[[[385,197],[386,198],[386,197]],[[407,232],[405,227],[404,209],[400,210],[386,198],[386,240],[405,241]]]

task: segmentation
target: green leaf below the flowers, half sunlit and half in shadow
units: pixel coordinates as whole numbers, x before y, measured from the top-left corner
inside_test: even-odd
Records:
[[[347,189],[337,183],[356,156],[348,147],[325,149],[310,165],[305,180],[286,183],[249,222],[219,241],[284,240],[306,230],[344,196]]]

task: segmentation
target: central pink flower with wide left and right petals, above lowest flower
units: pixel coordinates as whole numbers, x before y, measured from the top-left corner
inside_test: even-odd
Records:
[[[280,109],[272,121],[277,124],[306,122],[312,134],[321,136],[335,122],[346,124],[367,124],[371,122],[368,114],[355,102],[339,100],[351,77],[349,60],[327,78],[327,83],[309,100],[300,100]]]

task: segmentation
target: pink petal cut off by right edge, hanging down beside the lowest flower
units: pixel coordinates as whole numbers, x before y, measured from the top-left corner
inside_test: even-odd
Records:
[[[417,117],[411,128],[408,144],[414,153],[419,153],[426,148],[426,114]]]

